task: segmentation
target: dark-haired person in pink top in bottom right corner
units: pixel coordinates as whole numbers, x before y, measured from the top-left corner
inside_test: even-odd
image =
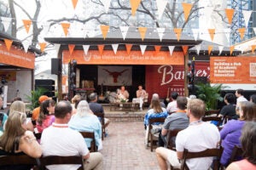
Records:
[[[230,163],[226,170],[256,169],[256,122],[245,123],[240,141],[245,159]]]

